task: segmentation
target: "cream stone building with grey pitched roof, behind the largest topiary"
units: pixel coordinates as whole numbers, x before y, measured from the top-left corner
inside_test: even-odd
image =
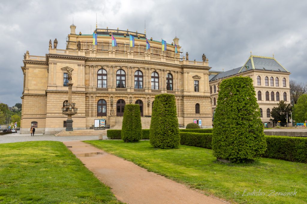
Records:
[[[251,55],[243,66],[225,72],[210,70],[209,73],[212,113],[216,108],[219,82],[234,76],[249,76],[253,79],[261,119],[268,126],[272,125],[270,121],[272,108],[277,107],[280,100],[290,103],[290,72],[274,57]]]

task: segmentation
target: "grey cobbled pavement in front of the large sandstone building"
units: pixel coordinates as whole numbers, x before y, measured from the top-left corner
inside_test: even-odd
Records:
[[[98,135],[94,136],[65,136],[65,137],[56,137],[54,134],[35,134],[31,136],[30,134],[5,134],[0,135],[0,144],[1,143],[11,143],[11,142],[29,142],[29,141],[70,141],[70,140],[97,140]],[[103,137],[106,139],[106,137]]]

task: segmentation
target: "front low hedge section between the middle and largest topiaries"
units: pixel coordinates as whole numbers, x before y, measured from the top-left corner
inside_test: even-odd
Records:
[[[180,144],[211,149],[212,133],[180,132]]]

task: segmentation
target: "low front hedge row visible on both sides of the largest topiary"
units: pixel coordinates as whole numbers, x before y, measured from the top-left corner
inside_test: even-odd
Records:
[[[180,132],[181,145],[212,149],[211,133]],[[262,157],[307,163],[307,138],[265,135],[267,149]]]

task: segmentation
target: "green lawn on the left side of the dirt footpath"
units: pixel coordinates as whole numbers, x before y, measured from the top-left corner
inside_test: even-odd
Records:
[[[119,203],[61,142],[0,144],[0,203]]]

